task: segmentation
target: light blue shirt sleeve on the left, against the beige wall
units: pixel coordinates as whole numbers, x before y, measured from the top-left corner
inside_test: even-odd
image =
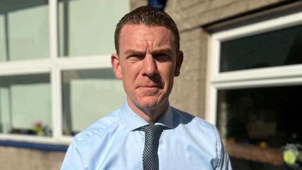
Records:
[[[83,160],[77,144],[72,140],[70,143],[61,170],[84,170]]]

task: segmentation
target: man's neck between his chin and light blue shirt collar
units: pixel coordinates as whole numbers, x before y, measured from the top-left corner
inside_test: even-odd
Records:
[[[140,116],[141,118],[146,120],[148,123],[154,124],[165,112],[165,110],[169,104],[169,100],[167,100],[166,102],[163,102],[155,107],[141,107],[141,106],[133,103],[127,96],[127,103],[128,103],[128,106],[133,110],[134,113],[136,113],[138,116]]]

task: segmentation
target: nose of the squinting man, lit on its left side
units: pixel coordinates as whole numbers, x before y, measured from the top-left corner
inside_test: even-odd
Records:
[[[153,76],[157,72],[158,71],[157,71],[156,61],[154,60],[151,54],[146,54],[145,58],[143,59],[142,75]]]

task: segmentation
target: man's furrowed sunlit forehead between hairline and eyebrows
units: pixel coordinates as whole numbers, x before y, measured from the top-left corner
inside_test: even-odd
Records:
[[[120,50],[125,48],[175,48],[172,31],[164,26],[125,25],[120,32]]]

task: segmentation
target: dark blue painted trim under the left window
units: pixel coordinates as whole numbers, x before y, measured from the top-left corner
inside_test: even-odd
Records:
[[[17,147],[17,148],[28,148],[28,149],[38,149],[38,150],[45,150],[45,151],[61,151],[61,152],[66,152],[68,149],[67,145],[50,145],[50,144],[30,143],[30,142],[16,142],[10,140],[0,140],[0,145]]]

